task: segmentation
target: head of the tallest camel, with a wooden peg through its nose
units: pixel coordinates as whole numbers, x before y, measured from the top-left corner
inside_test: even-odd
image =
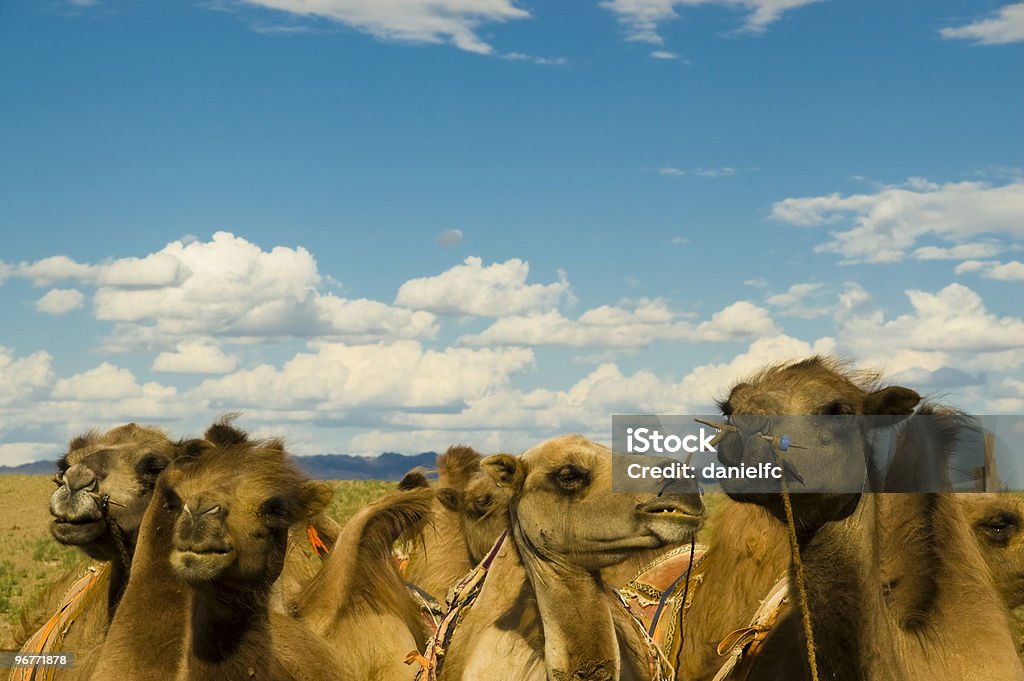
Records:
[[[871,430],[906,418],[920,400],[909,388],[880,387],[874,376],[834,358],[776,365],[719,402],[732,427],[723,431],[718,458],[726,466],[781,460],[788,490],[805,493],[792,496],[798,526],[813,531],[853,512],[867,476]],[[782,436],[799,446],[781,452]],[[722,488],[785,518],[778,480],[724,479]]]

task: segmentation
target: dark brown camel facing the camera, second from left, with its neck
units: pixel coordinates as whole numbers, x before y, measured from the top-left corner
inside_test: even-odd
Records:
[[[294,642],[305,638],[315,639],[283,612],[272,611],[268,614],[267,611],[270,610],[269,602],[278,588],[274,579],[282,571],[282,566],[293,561],[308,562],[305,556],[289,552],[288,563],[285,563],[287,547],[294,544],[289,541],[289,524],[293,525],[291,530],[294,535],[300,526],[304,529],[309,518],[318,518],[317,514],[330,499],[329,488],[322,483],[306,481],[287,461],[280,441],[250,441],[244,431],[231,425],[230,418],[211,426],[205,439],[188,440],[181,446],[183,455],[158,479],[154,503],[147,508],[139,531],[132,574],[122,603],[111,623],[99,663],[91,677],[93,681],[110,678],[175,678],[176,674],[182,678],[188,678],[189,674],[195,675],[193,678],[230,678],[232,673],[239,671],[237,668],[219,661],[223,667],[218,671],[204,670],[203,665],[209,662],[209,656],[204,655],[210,652],[209,646],[216,647],[218,643],[227,648],[232,645],[241,646],[243,639],[250,646],[247,650],[251,651],[255,647],[263,654],[256,661],[266,663],[258,668],[260,676],[267,674],[268,670],[278,674],[280,670],[274,666],[275,663],[267,662],[269,656],[273,656],[274,661],[279,654],[291,658],[301,656],[305,654],[304,648],[301,645],[295,646]],[[275,473],[280,475],[274,475]],[[296,480],[300,483],[298,491],[293,488]],[[217,486],[218,482],[221,483],[220,486]],[[203,487],[205,483],[210,485],[209,494],[225,494],[225,490],[229,490],[227,494],[231,497],[236,513],[231,517],[233,522],[225,523],[222,537],[230,537],[232,530],[241,534],[238,548],[227,554],[213,552],[211,555],[203,555],[200,552],[190,555],[181,552],[177,555],[185,557],[182,564],[200,566],[197,567],[200,570],[204,561],[209,566],[218,559],[227,562],[228,556],[240,565],[236,565],[234,571],[225,570],[220,578],[213,576],[213,570],[210,570],[210,577],[214,580],[221,579],[221,582],[194,590],[171,562],[179,539],[180,516],[188,517],[190,514],[190,509],[189,513],[184,513],[176,485],[180,484],[190,493]],[[255,503],[254,498],[259,496],[261,490],[268,492],[271,487],[275,494],[268,495],[268,499],[264,500],[268,506],[256,509],[246,507],[246,503]],[[247,497],[242,492],[250,494]],[[284,503],[282,512],[274,506],[279,499],[288,500]],[[266,513],[260,515],[262,511]],[[294,519],[295,522],[287,523],[286,520],[289,519]],[[282,522],[285,522],[284,530],[279,526]],[[330,525],[323,530],[329,534]],[[251,531],[252,536],[246,536],[246,531]],[[247,542],[247,539],[252,541]],[[266,551],[266,555],[260,556],[260,550]],[[187,571],[187,566],[182,569]],[[262,578],[259,577],[260,570],[263,570]],[[250,582],[247,583],[247,579]],[[224,584],[227,585],[226,593],[217,595],[216,587]],[[253,591],[247,593],[246,586],[252,587]],[[220,605],[231,600],[242,603],[242,614],[238,619],[247,625],[243,629],[250,638],[221,636],[220,633],[212,638],[202,634],[195,635],[196,627],[213,626],[212,621],[216,618],[231,616],[225,611],[227,608],[205,607],[209,605],[211,595]],[[194,619],[197,609],[208,616]],[[159,612],[160,616],[154,616],[155,612]],[[276,635],[272,646],[268,641],[260,639],[261,636],[269,636],[267,622],[280,625],[283,631]],[[225,624],[224,631],[230,628]],[[236,629],[230,631],[237,633]],[[140,645],[143,641],[144,645]],[[199,662],[189,657],[194,641],[198,643]],[[309,645],[315,647],[315,643],[313,640]],[[203,647],[204,645],[208,647]],[[238,652],[239,648],[236,647],[234,651]],[[213,654],[216,656],[216,652]],[[330,654],[325,659],[328,662],[315,662],[306,666],[306,669],[312,670],[310,673],[313,676],[297,678],[316,678],[315,675],[319,673],[328,674],[323,678],[336,678],[330,675],[334,673],[333,665],[336,661]],[[191,667],[189,663],[193,663]],[[216,667],[217,661],[211,664]],[[213,676],[205,677],[207,672]],[[248,668],[238,678],[253,678],[248,674]]]

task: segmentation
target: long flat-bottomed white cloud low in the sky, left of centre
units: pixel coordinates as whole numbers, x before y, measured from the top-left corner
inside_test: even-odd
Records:
[[[445,408],[497,390],[532,366],[526,348],[436,351],[415,341],[323,343],[281,369],[261,365],[206,380],[193,392],[229,410]]]

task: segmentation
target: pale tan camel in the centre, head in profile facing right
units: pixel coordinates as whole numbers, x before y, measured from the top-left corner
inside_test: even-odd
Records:
[[[651,656],[652,644],[599,570],[690,539],[703,519],[695,486],[662,497],[612,493],[611,451],[582,435],[521,457],[495,455],[483,468],[511,493],[510,531],[434,657],[436,678],[663,678],[668,664]]]

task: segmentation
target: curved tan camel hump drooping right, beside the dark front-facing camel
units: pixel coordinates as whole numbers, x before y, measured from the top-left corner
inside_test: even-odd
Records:
[[[342,651],[359,681],[412,679],[406,655],[423,650],[431,626],[398,572],[392,547],[431,517],[429,488],[398,491],[360,509],[342,527],[324,568],[293,612]]]

